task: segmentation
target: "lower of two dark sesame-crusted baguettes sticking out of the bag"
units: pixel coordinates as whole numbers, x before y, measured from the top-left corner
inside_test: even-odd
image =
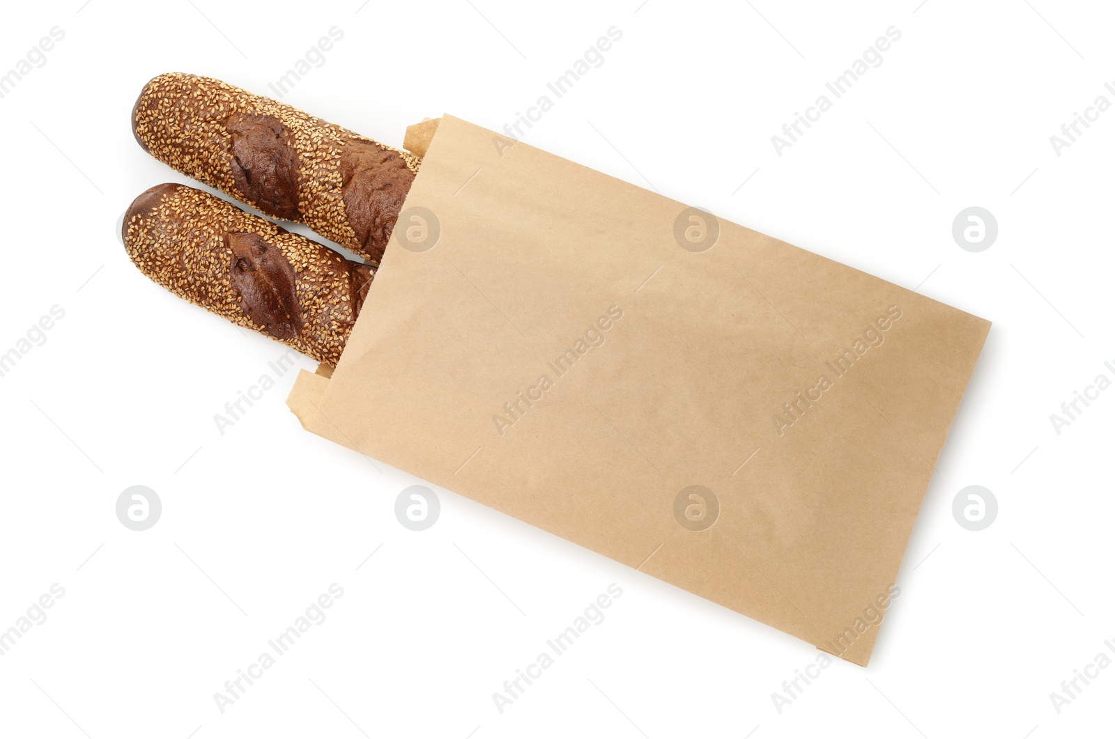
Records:
[[[372,268],[215,195],[167,183],[122,226],[132,262],[171,292],[336,366]]]

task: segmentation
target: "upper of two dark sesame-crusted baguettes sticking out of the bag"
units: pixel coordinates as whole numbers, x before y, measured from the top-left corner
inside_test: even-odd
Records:
[[[139,94],[152,156],[379,264],[420,159],[219,79],[166,74]]]

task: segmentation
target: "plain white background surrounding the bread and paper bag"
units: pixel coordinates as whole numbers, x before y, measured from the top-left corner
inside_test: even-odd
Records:
[[[0,99],[0,352],[65,310],[0,378],[0,629],[65,589],[0,657],[0,735],[1112,732],[1115,669],[1059,714],[1049,698],[1115,640],[1115,390],[1060,435],[1049,420],[1115,377],[1115,113],[1061,156],[1049,140],[1115,101],[1109,7],[83,2],[9,3],[0,25],[2,69],[65,31]],[[283,348],[126,259],[122,211],[184,182],[128,114],[163,71],[268,94],[332,26],[343,39],[283,100],[394,145],[443,111],[502,128],[615,26],[524,140],[995,322],[870,668],[836,660],[779,713],[772,693],[817,659],[803,642],[446,490],[432,528],[405,529],[395,497],[420,480],[302,431],[293,372],[219,434]],[[770,137],[891,26],[883,64],[778,156]],[[951,235],[971,205],[999,224],[981,253]],[[999,502],[981,532],[951,513],[973,484]],[[163,502],[146,532],[116,518],[130,485]],[[222,714],[213,694],[331,583],[328,619]],[[500,713],[492,693],[610,583],[605,621]]]

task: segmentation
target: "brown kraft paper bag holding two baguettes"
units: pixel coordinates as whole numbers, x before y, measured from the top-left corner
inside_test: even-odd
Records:
[[[419,126],[348,347],[290,396],[302,425],[866,664],[990,323]]]

